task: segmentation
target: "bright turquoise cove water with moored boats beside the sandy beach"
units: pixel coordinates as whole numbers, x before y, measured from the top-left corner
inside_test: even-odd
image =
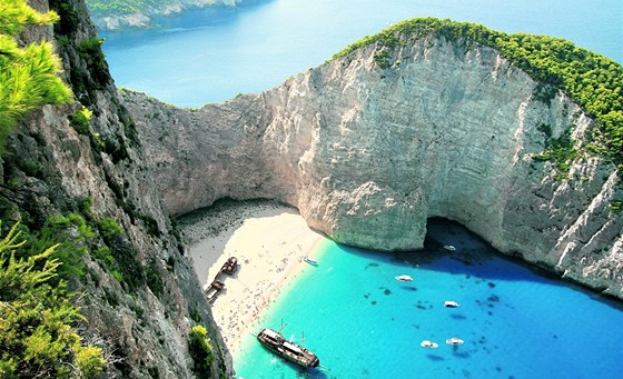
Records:
[[[621,378],[620,305],[502,258],[456,223],[433,220],[419,252],[319,250],[319,267],[307,267],[255,329],[305,337],[329,370],[296,368],[248,336],[234,356],[237,377]],[[414,281],[394,279],[403,273]],[[465,343],[448,346],[451,337]],[[419,347],[425,339],[439,347]]]

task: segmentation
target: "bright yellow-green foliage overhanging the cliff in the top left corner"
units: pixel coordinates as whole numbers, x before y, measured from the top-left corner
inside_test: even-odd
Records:
[[[20,47],[17,41],[26,27],[56,20],[55,12],[39,13],[26,0],[0,0],[0,152],[26,112],[71,100],[70,90],[58,77],[60,60],[52,44]]]

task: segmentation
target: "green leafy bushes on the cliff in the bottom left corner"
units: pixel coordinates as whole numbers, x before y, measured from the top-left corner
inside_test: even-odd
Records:
[[[24,246],[17,230],[0,241],[0,377],[92,377],[106,361],[71,326],[82,316],[57,280],[60,262],[50,258],[56,246],[17,258]]]

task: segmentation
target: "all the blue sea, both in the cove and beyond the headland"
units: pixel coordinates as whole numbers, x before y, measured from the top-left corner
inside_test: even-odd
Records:
[[[256,0],[101,33],[119,87],[181,107],[259,92],[392,23],[434,16],[550,34],[623,61],[621,0]],[[263,327],[316,351],[299,370],[248,336],[235,353],[255,378],[622,378],[620,303],[548,279],[434,220],[424,251],[387,255],[326,241]],[[442,248],[457,247],[456,252]],[[411,283],[397,275],[409,275]],[[444,308],[455,300],[459,308]],[[457,337],[463,346],[445,340]],[[419,347],[422,340],[439,343]]]

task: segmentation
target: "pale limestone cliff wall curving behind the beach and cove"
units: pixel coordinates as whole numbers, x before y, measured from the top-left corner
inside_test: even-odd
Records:
[[[335,240],[377,250],[418,249],[426,219],[444,217],[623,298],[614,167],[583,156],[560,180],[533,160],[544,124],[580,147],[593,121],[563,93],[536,100],[538,83],[491,48],[403,38],[196,111],[123,93],[169,209],[278,199]]]

